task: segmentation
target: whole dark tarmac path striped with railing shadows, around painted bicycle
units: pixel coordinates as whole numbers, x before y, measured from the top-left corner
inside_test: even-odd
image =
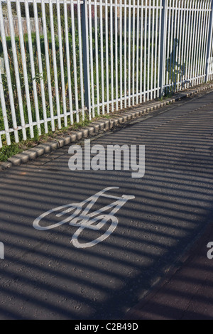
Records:
[[[70,171],[68,146],[1,171],[0,318],[213,318],[212,112],[210,92],[94,138],[91,145],[105,148],[145,145],[143,178]],[[99,216],[111,200],[131,196],[115,218],[93,229],[74,218],[69,225],[71,210],[106,188],[114,198],[92,203]]]

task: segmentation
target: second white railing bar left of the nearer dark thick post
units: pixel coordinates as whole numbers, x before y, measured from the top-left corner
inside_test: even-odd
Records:
[[[73,72],[75,82],[75,109],[76,109],[76,122],[79,123],[79,102],[78,102],[78,87],[77,87],[77,59],[76,59],[76,43],[75,43],[75,15],[73,0],[70,0],[71,8],[71,29],[72,29],[72,53],[73,53]]]

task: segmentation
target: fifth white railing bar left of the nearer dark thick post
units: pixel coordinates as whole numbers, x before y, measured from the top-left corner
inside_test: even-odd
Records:
[[[50,31],[51,31],[51,41],[52,41],[52,53],[53,53],[53,72],[54,72],[54,82],[55,82],[55,100],[56,109],[58,115],[58,128],[61,129],[61,117],[60,117],[60,101],[58,92],[58,71],[57,71],[57,61],[56,61],[56,51],[55,51],[55,29],[53,22],[53,2],[50,0],[49,4],[50,10]]]

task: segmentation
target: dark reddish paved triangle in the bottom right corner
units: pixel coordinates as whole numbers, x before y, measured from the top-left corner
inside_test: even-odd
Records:
[[[129,320],[213,319],[213,226],[151,293],[126,314]],[[211,259],[207,257],[210,251]]]

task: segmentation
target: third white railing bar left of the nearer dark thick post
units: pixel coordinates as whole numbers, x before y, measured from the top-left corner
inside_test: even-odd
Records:
[[[69,33],[68,33],[68,16],[67,16],[67,1],[64,0],[64,16],[65,16],[65,45],[66,45],[66,58],[67,58],[67,81],[68,81],[68,94],[69,94],[69,106],[70,106],[70,123],[73,124],[73,109],[72,109],[72,81],[71,81],[71,68],[70,68],[70,46],[69,46]]]

